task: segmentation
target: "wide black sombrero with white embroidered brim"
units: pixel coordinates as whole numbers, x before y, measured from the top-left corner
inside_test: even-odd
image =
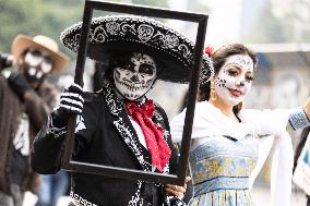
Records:
[[[74,52],[79,49],[81,27],[82,22],[60,36],[61,43]],[[190,39],[158,21],[131,15],[99,16],[92,20],[87,57],[100,61],[115,50],[144,52],[162,62],[159,80],[188,83],[193,49]],[[204,54],[201,83],[207,82],[213,73],[212,62]]]

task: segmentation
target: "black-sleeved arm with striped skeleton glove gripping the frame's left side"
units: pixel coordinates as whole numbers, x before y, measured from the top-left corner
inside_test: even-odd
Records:
[[[56,173],[60,169],[67,122],[72,114],[82,113],[82,93],[75,84],[65,89],[60,97],[60,106],[37,134],[31,154],[31,163],[36,172]]]

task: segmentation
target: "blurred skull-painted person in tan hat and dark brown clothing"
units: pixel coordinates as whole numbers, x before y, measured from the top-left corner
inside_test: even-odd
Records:
[[[17,35],[12,43],[17,72],[0,75],[0,205],[21,206],[24,192],[35,192],[38,174],[29,165],[31,144],[58,92],[45,77],[62,70],[69,58],[46,36]]]

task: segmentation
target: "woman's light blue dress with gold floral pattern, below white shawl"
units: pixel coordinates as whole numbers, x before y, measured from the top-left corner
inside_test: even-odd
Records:
[[[250,206],[249,175],[258,144],[234,137],[211,137],[190,155],[194,197],[191,206]]]

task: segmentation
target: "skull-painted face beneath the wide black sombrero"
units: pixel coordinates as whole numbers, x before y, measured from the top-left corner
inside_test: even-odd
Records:
[[[153,58],[143,53],[133,53],[128,62],[114,70],[115,85],[118,92],[130,100],[144,96],[157,76]]]

